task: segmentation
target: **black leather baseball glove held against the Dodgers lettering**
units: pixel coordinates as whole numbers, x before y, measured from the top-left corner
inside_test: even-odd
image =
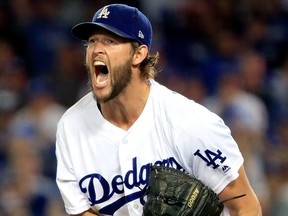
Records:
[[[224,205],[200,180],[174,168],[151,166],[143,216],[218,216]]]

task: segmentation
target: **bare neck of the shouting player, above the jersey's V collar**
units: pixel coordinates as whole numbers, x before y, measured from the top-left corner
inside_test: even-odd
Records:
[[[149,93],[149,84],[131,84],[117,98],[100,105],[102,115],[115,126],[128,130],[141,115]]]

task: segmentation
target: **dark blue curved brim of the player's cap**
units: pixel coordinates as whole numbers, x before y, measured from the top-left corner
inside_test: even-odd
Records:
[[[97,31],[97,29],[103,28],[107,31],[110,31],[120,37],[127,38],[127,39],[133,39],[132,36],[119,31],[118,29],[115,29],[114,27],[103,24],[103,23],[96,23],[96,22],[83,22],[75,25],[72,28],[72,34],[74,37],[80,39],[80,40],[88,40],[88,38]]]

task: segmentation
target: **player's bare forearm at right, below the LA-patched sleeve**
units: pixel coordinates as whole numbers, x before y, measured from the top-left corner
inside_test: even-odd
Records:
[[[240,194],[246,194],[246,196],[224,203],[225,206],[229,209],[231,216],[261,216],[261,206],[249,184],[243,166],[241,166],[239,169],[239,177],[230,184],[228,184],[225,189],[219,194],[219,197],[220,200],[225,200]]]

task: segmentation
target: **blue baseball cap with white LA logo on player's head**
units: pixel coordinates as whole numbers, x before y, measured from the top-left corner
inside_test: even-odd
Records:
[[[74,37],[88,40],[97,28],[104,28],[120,37],[138,41],[151,48],[152,26],[137,8],[125,4],[111,4],[100,8],[92,22],[82,22],[72,28]]]

